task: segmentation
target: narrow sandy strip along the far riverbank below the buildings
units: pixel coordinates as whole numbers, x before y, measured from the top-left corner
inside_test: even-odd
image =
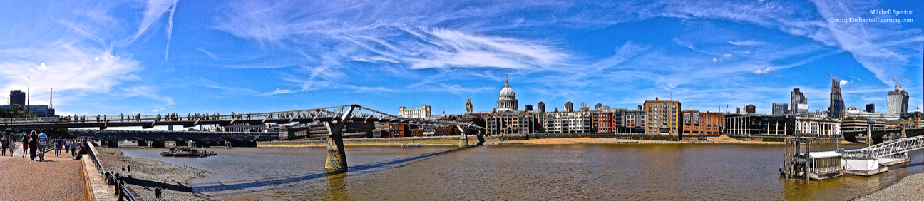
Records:
[[[468,144],[478,143],[478,138],[468,137]],[[356,138],[344,139],[344,146],[457,146],[456,136],[444,137],[395,137],[395,138]],[[646,140],[622,139],[614,137],[565,137],[533,138],[528,140],[500,140],[496,137],[485,139],[485,145],[571,145],[571,144],[748,144],[748,145],[783,145],[784,142],[763,142],[739,140],[729,136],[710,136],[706,140]],[[291,140],[258,142],[259,148],[310,148],[327,147],[327,140]]]

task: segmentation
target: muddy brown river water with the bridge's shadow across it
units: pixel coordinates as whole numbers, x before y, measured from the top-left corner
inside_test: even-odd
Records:
[[[782,145],[347,147],[346,172],[324,171],[326,148],[214,148],[208,158],[122,150],[213,171],[194,191],[226,200],[847,200],[924,171],[918,150],[869,177],[785,181]]]

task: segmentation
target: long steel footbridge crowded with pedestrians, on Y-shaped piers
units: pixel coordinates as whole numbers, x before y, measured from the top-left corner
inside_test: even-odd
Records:
[[[201,124],[323,124],[328,132],[327,137],[327,160],[324,167],[328,170],[346,170],[346,152],[342,134],[344,126],[350,122],[363,123],[393,123],[393,124],[424,124],[424,125],[447,125],[457,127],[462,134],[467,129],[480,129],[484,127],[456,121],[440,121],[421,118],[398,117],[385,112],[378,112],[357,104],[341,105],[334,107],[316,108],[298,111],[286,112],[262,112],[262,113],[232,113],[232,114],[188,114],[183,115],[119,115],[91,116],[90,119],[79,116],[72,117],[36,117],[36,118],[9,118],[0,119],[0,128],[6,129],[44,129],[44,128],[87,128],[99,127],[104,130],[108,127],[124,126],[141,126],[142,128],[152,128],[160,125],[181,125],[192,127]],[[162,132],[144,132],[135,135],[119,135],[119,132],[90,132],[78,130],[78,134],[84,137],[96,138],[108,141],[109,146],[117,144],[120,139],[136,139],[140,141],[152,141],[154,145],[163,146],[164,141],[177,139],[189,139],[203,143],[213,140],[228,140],[237,143],[255,143],[253,140],[256,133],[250,134],[166,134]],[[81,133],[82,132],[82,133]],[[123,132],[124,133],[124,132]],[[480,132],[479,132],[480,133]],[[113,135],[115,134],[115,135]],[[250,135],[250,136],[248,136]],[[483,137],[479,136],[480,142],[484,143]],[[179,142],[177,142],[179,143]],[[468,137],[459,135],[459,147],[468,147]]]

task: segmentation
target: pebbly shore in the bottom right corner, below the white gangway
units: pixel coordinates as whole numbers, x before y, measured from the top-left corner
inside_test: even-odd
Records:
[[[916,173],[893,183],[872,194],[861,196],[857,201],[868,200],[924,200],[924,173]]]

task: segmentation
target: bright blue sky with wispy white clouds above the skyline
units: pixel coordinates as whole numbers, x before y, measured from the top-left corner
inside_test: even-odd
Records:
[[[918,1],[4,1],[0,89],[31,77],[30,103],[54,88],[60,114],[350,103],[438,114],[463,112],[467,96],[491,111],[507,75],[521,109],[673,95],[770,112],[792,88],[826,109],[832,73],[847,106],[877,111],[906,77],[914,110],[922,12]]]

